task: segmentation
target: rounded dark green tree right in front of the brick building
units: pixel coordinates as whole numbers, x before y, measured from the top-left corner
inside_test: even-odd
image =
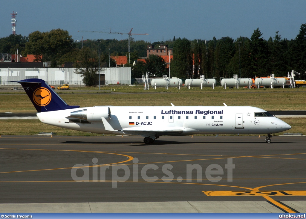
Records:
[[[150,55],[146,59],[147,71],[161,77],[166,73],[166,64],[161,56]]]

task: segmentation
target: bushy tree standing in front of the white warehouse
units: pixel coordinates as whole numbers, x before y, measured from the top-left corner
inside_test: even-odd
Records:
[[[88,47],[80,49],[79,56],[75,63],[75,72],[81,74],[86,86],[96,86],[99,83],[99,56],[97,52]]]

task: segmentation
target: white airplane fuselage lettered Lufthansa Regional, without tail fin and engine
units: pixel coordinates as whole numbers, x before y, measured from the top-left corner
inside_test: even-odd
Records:
[[[83,132],[140,135],[191,135],[191,134],[271,134],[291,128],[274,116],[256,117],[266,112],[252,106],[107,106],[111,117],[106,120],[81,121],[71,118],[71,112],[86,109],[88,112],[106,106],[84,107],[37,113],[40,121],[66,129]],[[99,115],[99,114],[98,114]],[[103,122],[104,121],[104,122]],[[168,131],[173,132],[168,132]]]

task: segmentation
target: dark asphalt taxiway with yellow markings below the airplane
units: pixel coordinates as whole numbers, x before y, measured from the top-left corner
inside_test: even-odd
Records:
[[[289,203],[306,204],[306,137],[271,140],[1,136],[0,203],[264,201],[301,212]]]

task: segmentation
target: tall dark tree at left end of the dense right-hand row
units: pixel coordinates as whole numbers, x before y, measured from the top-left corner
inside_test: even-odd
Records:
[[[186,38],[178,38],[173,45],[173,60],[170,63],[171,75],[186,79],[192,75],[191,44]]]

